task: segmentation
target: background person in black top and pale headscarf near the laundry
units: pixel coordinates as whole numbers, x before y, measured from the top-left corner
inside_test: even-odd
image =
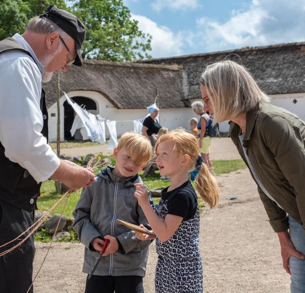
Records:
[[[160,128],[162,127],[157,120],[159,109],[154,105],[151,105],[147,107],[147,111],[150,115],[147,116],[143,121],[142,134],[149,138],[151,146],[154,148],[157,140],[156,134],[158,134]]]

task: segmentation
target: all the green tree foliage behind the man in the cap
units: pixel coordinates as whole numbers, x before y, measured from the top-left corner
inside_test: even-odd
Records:
[[[85,59],[132,61],[151,57],[151,36],[142,33],[122,0],[0,0],[0,40],[22,34],[50,4],[71,11],[86,27]],[[67,5],[66,5],[67,3]]]

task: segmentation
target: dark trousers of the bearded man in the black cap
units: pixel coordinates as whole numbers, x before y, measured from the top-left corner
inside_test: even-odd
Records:
[[[0,245],[13,240],[32,224],[33,212],[20,210],[0,200]],[[17,243],[18,241],[15,241],[0,248],[0,252]],[[35,246],[32,236],[20,247],[0,257],[1,293],[25,293],[27,291],[32,284],[34,256]],[[29,292],[33,292],[33,287]]]

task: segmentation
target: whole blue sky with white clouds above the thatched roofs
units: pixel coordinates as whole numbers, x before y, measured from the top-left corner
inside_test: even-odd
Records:
[[[155,58],[305,41],[305,0],[124,0]]]

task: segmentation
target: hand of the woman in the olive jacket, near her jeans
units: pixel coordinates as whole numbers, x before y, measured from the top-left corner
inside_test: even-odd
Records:
[[[305,255],[301,252],[295,250],[294,245],[292,241],[290,240],[288,231],[284,232],[278,232],[278,237],[280,240],[281,245],[281,255],[283,259],[283,268],[286,270],[286,272],[291,275],[290,269],[289,269],[289,257],[291,255],[300,258],[305,259]]]

